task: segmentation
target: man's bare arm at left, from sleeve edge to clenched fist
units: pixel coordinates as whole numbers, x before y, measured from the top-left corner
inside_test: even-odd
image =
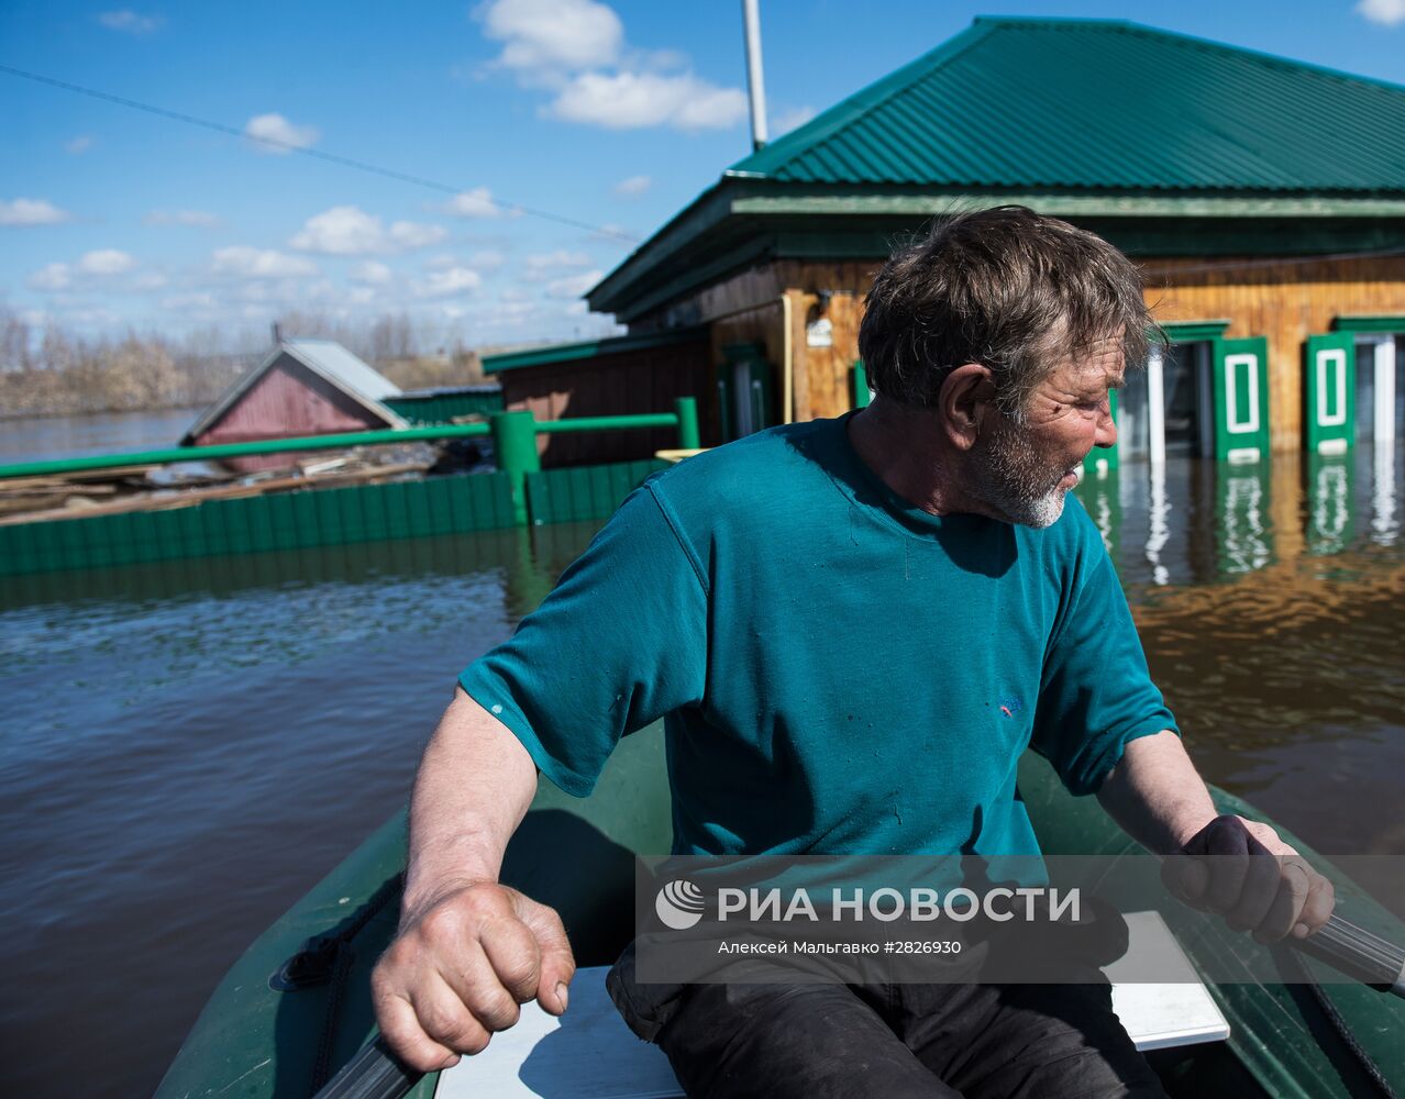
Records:
[[[371,977],[381,1032],[422,1072],[481,1051],[520,1003],[566,1009],[561,918],[497,884],[535,791],[527,749],[458,687],[414,780],[400,932]]]

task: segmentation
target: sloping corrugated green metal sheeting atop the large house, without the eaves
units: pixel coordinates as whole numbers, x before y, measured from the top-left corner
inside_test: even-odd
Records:
[[[1405,87],[1132,22],[978,18],[728,174],[1401,193]]]

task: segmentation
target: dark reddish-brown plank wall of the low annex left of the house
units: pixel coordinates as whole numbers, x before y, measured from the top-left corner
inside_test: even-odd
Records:
[[[572,363],[517,367],[504,370],[500,377],[506,406],[530,409],[538,420],[673,412],[674,398],[694,396],[702,443],[717,441],[715,402],[710,399],[715,382],[704,340]],[[652,458],[656,451],[677,444],[674,429],[537,437],[541,464],[547,469]]]

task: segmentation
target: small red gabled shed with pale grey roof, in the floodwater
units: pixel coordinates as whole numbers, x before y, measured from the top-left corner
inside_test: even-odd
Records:
[[[332,340],[282,340],[226,389],[181,438],[183,447],[407,427],[386,401],[399,388]],[[288,455],[228,460],[244,472],[281,468]]]

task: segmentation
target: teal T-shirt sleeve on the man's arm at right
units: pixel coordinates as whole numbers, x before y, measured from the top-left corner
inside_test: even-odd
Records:
[[[1085,558],[1086,579],[1065,607],[1044,659],[1031,739],[1072,794],[1096,793],[1128,741],[1162,729],[1179,732],[1151,682],[1127,597],[1100,540]]]

